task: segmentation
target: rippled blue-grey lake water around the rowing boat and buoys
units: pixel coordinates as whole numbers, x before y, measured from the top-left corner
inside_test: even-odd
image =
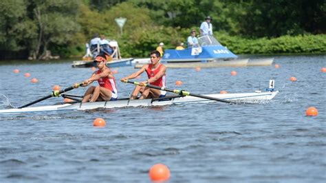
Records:
[[[324,182],[326,73],[320,69],[326,56],[274,58],[279,69],[273,64],[167,71],[168,87],[197,94],[253,92],[274,79],[279,94],[270,103],[2,115],[0,182],[151,182],[148,171],[156,163],[169,166],[169,182]],[[135,72],[117,69],[116,78]],[[54,85],[69,87],[91,72],[63,61],[1,63],[0,109],[30,103]],[[291,76],[298,81],[291,82]],[[33,77],[39,83],[31,83]],[[176,80],[184,84],[176,87]],[[129,96],[133,85],[117,83],[120,97]],[[60,101],[50,98],[35,106]],[[305,116],[312,106],[318,116]],[[104,118],[106,127],[93,127],[95,118]]]

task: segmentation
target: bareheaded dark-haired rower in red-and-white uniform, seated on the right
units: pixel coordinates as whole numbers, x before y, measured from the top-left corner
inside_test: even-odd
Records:
[[[129,80],[140,76],[143,72],[147,73],[149,77],[148,80],[140,82],[140,85],[136,86],[133,89],[133,93],[131,94],[131,99],[137,99],[138,94],[141,94],[139,99],[144,98],[159,98],[164,97],[166,95],[166,91],[162,91],[160,89],[153,89],[149,87],[144,87],[144,84],[156,85],[159,87],[166,87],[166,67],[160,63],[161,54],[157,50],[151,52],[151,63],[143,65],[138,72],[135,72],[127,77],[121,79],[122,82],[124,80]]]

